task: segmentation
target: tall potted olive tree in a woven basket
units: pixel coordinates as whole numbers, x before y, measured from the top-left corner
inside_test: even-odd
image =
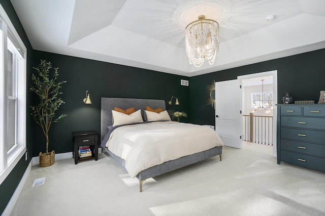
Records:
[[[46,152],[39,153],[40,166],[50,166],[54,163],[55,152],[54,150],[48,152],[49,145],[49,129],[53,122],[57,122],[61,118],[67,116],[61,114],[55,117],[55,112],[59,107],[64,104],[59,98],[62,93],[59,92],[61,85],[67,81],[57,81],[58,68],[54,68],[53,74],[50,76],[50,69],[52,69],[51,62],[41,60],[38,67],[33,67],[37,74],[31,76],[31,87],[29,91],[35,92],[38,96],[38,102],[35,106],[30,106],[31,116],[35,119],[36,123],[42,127],[43,133],[46,138]]]

